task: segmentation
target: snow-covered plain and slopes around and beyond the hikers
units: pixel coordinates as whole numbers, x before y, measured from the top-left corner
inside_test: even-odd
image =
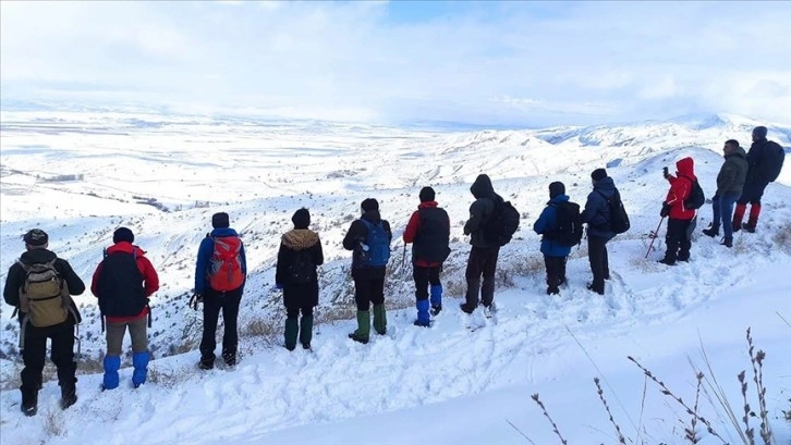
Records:
[[[776,443],[791,441],[781,419],[791,410],[791,326],[784,321],[791,320],[791,168],[767,188],[758,232],[739,233],[733,249],[696,235],[689,264],[656,263],[661,239],[644,259],[667,190],[661,168],[692,156],[710,195],[722,143],[737,138],[747,148],[752,127],[765,123],[714,115],[453,133],[123,112],[2,111],[0,118],[0,270],[21,254],[21,235],[40,226],[52,250],[88,281],[112,231],[126,225],[162,281],[153,301],[151,381],[137,391],[122,385],[102,393],[100,374],[83,374],[80,400],[66,411],[58,409],[59,388],[49,382],[35,418],[19,411],[17,327],[11,308],[2,308],[3,444],[559,443],[531,399],[535,393],[569,443],[618,443],[594,376],[628,443],[683,443],[690,416],[646,383],[626,356],[692,403],[695,369],[713,378],[703,346],[741,418],[737,374],[743,369],[749,401],[758,410],[749,326],[767,353],[763,382]],[[770,139],[791,147],[790,124],[767,126]],[[613,280],[605,297],[585,291],[583,243],[572,252],[568,288],[548,297],[532,232],[547,185],[562,181],[571,199],[584,202],[589,173],[599,166],[616,180],[632,217],[632,230],[609,245]],[[479,173],[523,213],[516,239],[501,252],[492,320],[467,320],[457,309],[470,249],[461,227]],[[447,310],[431,329],[412,325],[409,258],[403,268],[397,240],[387,300],[406,309],[389,313],[386,336],[353,343],[345,337],[354,323],[350,256],[340,240],[367,197],[379,200],[400,235],[424,185],[434,186],[452,220]],[[328,259],[313,353],[279,346],[282,309],[272,289],[279,236],[301,206],[311,209]],[[200,323],[186,301],[197,245],[220,210],[231,214],[247,246],[242,357],[235,369],[202,373],[194,350]],[[698,234],[709,221],[707,205]],[[87,368],[101,357],[104,338],[94,297],[76,300]],[[122,372],[122,379],[130,375],[130,369]],[[703,417],[727,442],[741,443],[704,388]],[[758,422],[751,422],[757,438]],[[697,430],[702,443],[721,443],[699,423]]]

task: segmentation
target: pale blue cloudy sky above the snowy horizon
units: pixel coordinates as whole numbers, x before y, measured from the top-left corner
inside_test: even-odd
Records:
[[[791,115],[789,2],[0,2],[0,95],[373,123]]]

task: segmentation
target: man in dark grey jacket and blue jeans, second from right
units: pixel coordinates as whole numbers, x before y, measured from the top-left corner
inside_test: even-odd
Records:
[[[742,195],[744,182],[747,178],[747,156],[744,149],[734,139],[727,140],[725,147],[725,162],[717,174],[717,193],[711,198],[713,221],[703,233],[710,237],[719,235],[720,224],[725,230],[722,245],[733,247],[733,205]]]

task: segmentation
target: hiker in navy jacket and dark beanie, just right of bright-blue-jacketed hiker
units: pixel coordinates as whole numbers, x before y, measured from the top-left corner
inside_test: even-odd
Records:
[[[621,199],[616,183],[607,175],[605,169],[596,169],[591,173],[593,191],[587,195],[582,222],[587,224],[587,257],[591,263],[593,282],[588,291],[605,295],[605,280],[610,279],[610,265],[607,256],[607,243],[616,236],[610,227],[610,206],[608,200]]]

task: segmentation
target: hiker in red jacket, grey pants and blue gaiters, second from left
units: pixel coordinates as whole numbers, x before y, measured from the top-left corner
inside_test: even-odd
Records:
[[[145,251],[132,244],[134,238],[126,227],[119,227],[112,234],[113,245],[105,251],[90,285],[90,292],[99,299],[101,316],[107,319],[104,390],[118,387],[126,327],[132,337],[134,387],[145,383],[148,374],[148,298],[159,288],[159,276]]]

